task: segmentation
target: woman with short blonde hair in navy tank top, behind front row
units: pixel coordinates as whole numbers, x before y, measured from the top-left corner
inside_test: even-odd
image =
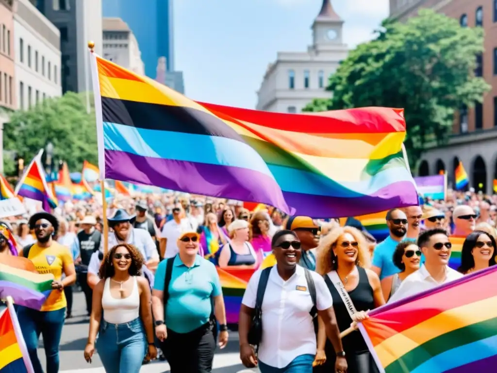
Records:
[[[257,257],[248,242],[248,222],[235,220],[228,226],[230,242],[221,248],[220,268],[255,268]]]

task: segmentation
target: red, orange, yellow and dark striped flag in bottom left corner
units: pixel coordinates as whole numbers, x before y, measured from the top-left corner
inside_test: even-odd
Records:
[[[12,304],[0,315],[0,373],[34,373]]]

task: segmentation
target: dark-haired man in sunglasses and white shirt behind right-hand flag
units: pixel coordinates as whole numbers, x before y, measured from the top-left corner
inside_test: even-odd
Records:
[[[402,281],[397,291],[388,300],[389,303],[463,277],[462,274],[449,267],[452,244],[444,229],[435,228],[421,233],[417,246],[423,254],[424,264]]]

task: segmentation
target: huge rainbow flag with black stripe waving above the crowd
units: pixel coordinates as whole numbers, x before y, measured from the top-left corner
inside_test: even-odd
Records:
[[[94,54],[91,65],[106,178],[316,218],[418,202],[402,109],[248,110],[192,101]]]

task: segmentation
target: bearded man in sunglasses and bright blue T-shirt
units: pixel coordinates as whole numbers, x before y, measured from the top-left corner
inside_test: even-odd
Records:
[[[404,240],[408,228],[408,219],[404,211],[394,208],[387,212],[387,226],[390,235],[376,245],[373,254],[371,269],[383,280],[386,277],[399,273],[399,269],[392,260],[395,248]]]

